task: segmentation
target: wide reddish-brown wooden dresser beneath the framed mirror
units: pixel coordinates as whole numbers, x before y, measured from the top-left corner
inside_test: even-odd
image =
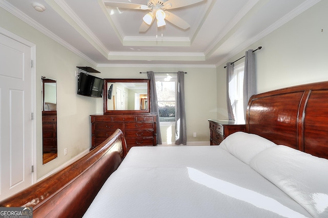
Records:
[[[121,129],[127,142],[127,151],[133,146],[156,146],[156,115],[113,114],[90,115],[91,149]]]

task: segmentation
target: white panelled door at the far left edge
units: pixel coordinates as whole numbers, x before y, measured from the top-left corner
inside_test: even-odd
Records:
[[[33,182],[32,99],[31,48],[0,33],[0,200]]]

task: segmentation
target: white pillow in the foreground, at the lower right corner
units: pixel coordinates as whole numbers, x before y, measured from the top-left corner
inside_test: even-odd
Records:
[[[250,166],[314,217],[328,217],[328,160],[277,145],[263,150]]]

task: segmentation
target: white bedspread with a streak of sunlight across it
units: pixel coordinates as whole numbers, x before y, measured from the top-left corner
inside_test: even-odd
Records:
[[[220,146],[133,147],[84,217],[311,217]]]

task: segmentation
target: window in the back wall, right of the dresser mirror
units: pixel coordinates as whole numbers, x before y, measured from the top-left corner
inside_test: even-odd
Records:
[[[175,122],[176,76],[155,76],[156,92],[161,124]]]

